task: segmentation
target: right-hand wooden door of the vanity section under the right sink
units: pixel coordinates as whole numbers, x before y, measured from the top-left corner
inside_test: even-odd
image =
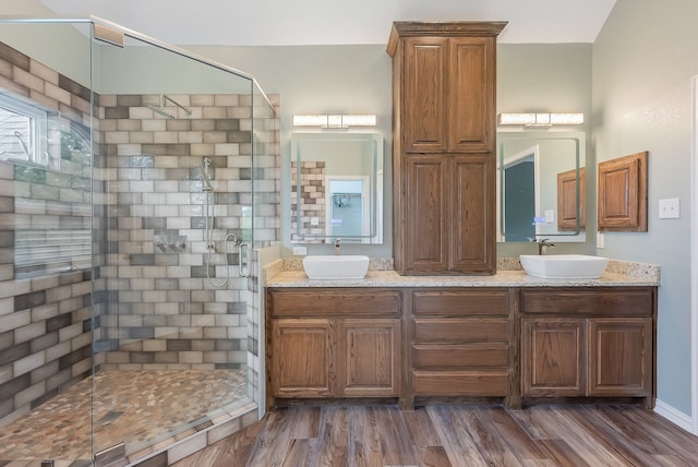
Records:
[[[647,395],[651,387],[652,320],[595,319],[589,326],[590,395]]]

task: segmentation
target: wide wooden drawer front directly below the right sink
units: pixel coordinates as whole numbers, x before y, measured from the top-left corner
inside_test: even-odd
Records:
[[[653,302],[653,291],[650,287],[521,290],[522,313],[650,316]]]

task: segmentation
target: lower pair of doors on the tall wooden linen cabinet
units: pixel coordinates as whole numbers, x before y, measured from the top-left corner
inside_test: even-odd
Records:
[[[408,155],[405,271],[495,271],[495,178],[491,155]]]

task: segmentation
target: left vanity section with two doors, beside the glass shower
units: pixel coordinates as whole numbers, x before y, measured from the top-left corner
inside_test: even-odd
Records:
[[[267,404],[398,397],[401,291],[268,289]]]

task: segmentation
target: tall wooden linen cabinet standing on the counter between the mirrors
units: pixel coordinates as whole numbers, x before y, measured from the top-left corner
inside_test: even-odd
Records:
[[[393,248],[402,275],[496,272],[496,37],[506,22],[395,22]]]

